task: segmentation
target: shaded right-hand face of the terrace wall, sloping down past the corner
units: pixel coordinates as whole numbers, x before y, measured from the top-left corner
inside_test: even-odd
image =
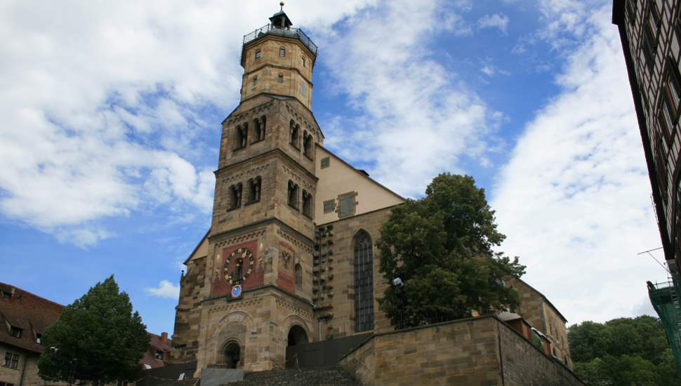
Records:
[[[566,366],[546,357],[520,334],[499,323],[505,386],[583,386]]]

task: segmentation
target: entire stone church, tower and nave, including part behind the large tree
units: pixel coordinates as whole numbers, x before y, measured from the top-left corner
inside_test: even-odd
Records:
[[[185,261],[173,360],[284,368],[286,348],[392,331],[374,246],[404,201],[324,147],[317,46],[283,11],[244,36],[241,102],[222,123],[212,225]],[[571,367],[566,320],[522,281],[518,314]]]

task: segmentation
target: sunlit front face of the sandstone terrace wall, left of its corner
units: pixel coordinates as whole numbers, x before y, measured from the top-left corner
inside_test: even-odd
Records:
[[[364,385],[502,385],[497,320],[463,319],[375,335],[341,359]],[[359,362],[375,362],[362,366]]]

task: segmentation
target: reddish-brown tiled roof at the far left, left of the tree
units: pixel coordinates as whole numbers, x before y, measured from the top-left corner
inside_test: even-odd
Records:
[[[42,352],[36,334],[57,321],[64,306],[5,283],[0,283],[0,291],[0,342]],[[4,294],[11,295],[7,299]],[[20,338],[10,334],[12,327],[22,329]]]

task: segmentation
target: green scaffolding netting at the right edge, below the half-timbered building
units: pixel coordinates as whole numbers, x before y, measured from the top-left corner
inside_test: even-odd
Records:
[[[663,283],[648,282],[648,295],[653,308],[662,320],[667,340],[674,354],[676,371],[681,377],[681,277],[673,274]]]

